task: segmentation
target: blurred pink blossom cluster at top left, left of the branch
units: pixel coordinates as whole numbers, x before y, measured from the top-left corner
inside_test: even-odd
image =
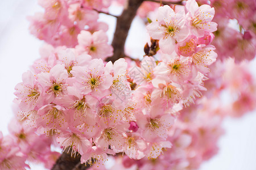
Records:
[[[39,0],[39,5],[45,12],[38,12],[28,18],[31,21],[31,33],[53,46],[74,47],[78,44],[77,35],[82,30],[108,30],[106,23],[97,22],[97,11],[108,8],[109,1]]]

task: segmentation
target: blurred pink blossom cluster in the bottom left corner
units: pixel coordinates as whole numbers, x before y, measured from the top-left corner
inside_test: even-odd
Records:
[[[51,151],[52,139],[46,134],[38,135],[26,121],[13,118],[8,129],[9,135],[0,132],[0,169],[30,168],[26,160],[51,168],[60,156],[59,152]]]

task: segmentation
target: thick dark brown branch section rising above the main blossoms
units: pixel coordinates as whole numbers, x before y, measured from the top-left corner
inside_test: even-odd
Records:
[[[117,25],[115,27],[114,38],[112,46],[114,48],[114,54],[112,57],[106,59],[106,61],[116,61],[121,57],[125,57],[125,41],[128,35],[131,22],[139,6],[141,6],[144,0],[129,0],[127,7],[123,10],[122,14],[117,18]]]

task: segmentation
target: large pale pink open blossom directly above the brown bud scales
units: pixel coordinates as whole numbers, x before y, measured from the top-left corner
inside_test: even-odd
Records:
[[[163,53],[174,52],[176,41],[188,37],[189,29],[185,24],[184,11],[175,13],[168,5],[159,7],[157,20],[147,25],[147,31],[153,39],[159,40]]]

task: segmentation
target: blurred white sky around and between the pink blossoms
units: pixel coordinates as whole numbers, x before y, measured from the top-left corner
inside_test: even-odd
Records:
[[[120,14],[122,8],[110,8],[112,14]],[[43,11],[35,0],[9,0],[0,2],[0,130],[8,134],[7,126],[14,116],[12,111],[14,87],[22,81],[27,71],[39,56],[43,42],[30,35],[26,17]],[[112,41],[115,18],[101,14],[100,20],[109,25],[109,41]],[[127,51],[134,57],[143,56],[148,37],[143,21],[135,18],[126,42]],[[254,59],[254,65],[256,61]],[[254,73],[256,74],[256,69]],[[226,133],[218,141],[220,150],[200,170],[255,170],[256,169],[256,112],[242,118],[226,118],[220,125]],[[44,169],[31,165],[31,169]]]

